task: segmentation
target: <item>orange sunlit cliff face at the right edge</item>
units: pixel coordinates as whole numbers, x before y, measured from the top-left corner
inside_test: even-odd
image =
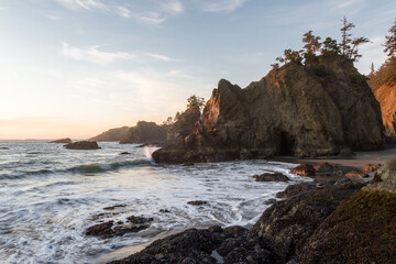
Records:
[[[396,135],[396,80],[383,85],[375,97],[381,106],[385,134]]]

